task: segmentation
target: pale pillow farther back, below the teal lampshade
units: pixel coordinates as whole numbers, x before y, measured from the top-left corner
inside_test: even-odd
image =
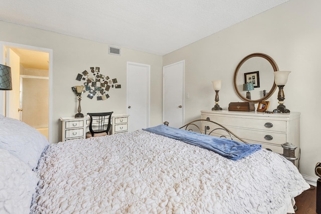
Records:
[[[35,168],[41,153],[48,145],[47,138],[35,128],[19,120],[0,115],[0,148]]]

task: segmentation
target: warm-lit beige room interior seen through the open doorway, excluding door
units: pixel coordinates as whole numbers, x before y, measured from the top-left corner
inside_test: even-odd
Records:
[[[49,53],[9,48],[19,60],[19,119],[49,138]],[[10,60],[11,61],[11,60]],[[18,81],[15,81],[18,82]],[[12,111],[16,107],[9,107]],[[15,109],[13,109],[15,108]]]

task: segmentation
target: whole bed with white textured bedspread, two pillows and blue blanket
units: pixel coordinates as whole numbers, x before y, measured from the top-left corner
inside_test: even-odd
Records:
[[[214,152],[159,129],[203,139],[160,125],[48,144],[0,115],[0,213],[286,213],[309,188],[282,155],[229,139]],[[244,157],[229,154],[238,147]]]

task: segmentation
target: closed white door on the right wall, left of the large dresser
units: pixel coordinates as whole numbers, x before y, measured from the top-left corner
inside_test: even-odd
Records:
[[[175,128],[184,125],[184,66],[183,60],[163,68],[163,122]]]

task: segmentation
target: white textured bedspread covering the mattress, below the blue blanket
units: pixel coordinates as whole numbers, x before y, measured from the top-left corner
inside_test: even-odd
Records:
[[[309,188],[265,149],[238,161],[138,130],[51,144],[31,213],[286,213]]]

